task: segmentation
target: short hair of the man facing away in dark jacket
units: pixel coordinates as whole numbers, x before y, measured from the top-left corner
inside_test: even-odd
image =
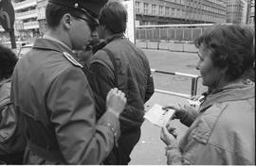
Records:
[[[113,34],[124,33],[127,23],[127,11],[117,1],[107,3],[101,8],[100,25],[105,25]]]

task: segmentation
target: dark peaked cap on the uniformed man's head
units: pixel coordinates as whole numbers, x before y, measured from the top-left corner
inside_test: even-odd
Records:
[[[50,3],[80,9],[88,12],[94,18],[98,18],[101,8],[107,3],[108,0],[49,0]]]

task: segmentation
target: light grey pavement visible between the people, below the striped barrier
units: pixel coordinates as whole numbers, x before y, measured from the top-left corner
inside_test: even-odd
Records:
[[[146,103],[146,110],[154,106],[155,103],[161,106],[177,103],[185,104],[186,99],[155,92]],[[179,120],[172,121],[171,125],[176,128],[178,133],[177,140],[179,140],[185,134],[187,127],[182,125]],[[165,144],[160,140],[160,128],[145,120],[141,126],[140,140],[131,154],[129,165],[166,165],[166,163]]]

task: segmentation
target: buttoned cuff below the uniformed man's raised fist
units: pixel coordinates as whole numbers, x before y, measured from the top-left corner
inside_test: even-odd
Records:
[[[98,121],[98,125],[108,126],[111,132],[113,133],[114,140],[116,145],[118,145],[118,140],[120,136],[120,125],[119,119],[114,113],[106,111],[101,119]]]

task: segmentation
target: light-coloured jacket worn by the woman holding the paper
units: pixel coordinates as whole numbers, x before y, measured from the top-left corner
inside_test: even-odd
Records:
[[[196,165],[255,164],[254,83],[230,83],[210,93],[202,114],[180,141],[183,162]]]

